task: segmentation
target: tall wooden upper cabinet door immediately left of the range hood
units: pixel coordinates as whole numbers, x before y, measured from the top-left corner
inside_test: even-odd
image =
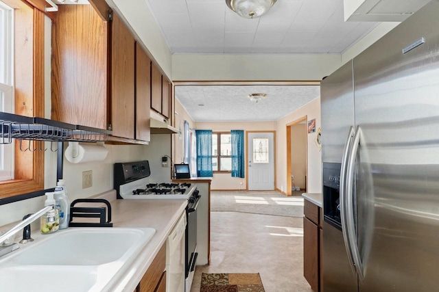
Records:
[[[151,60],[136,43],[136,140],[150,141]]]

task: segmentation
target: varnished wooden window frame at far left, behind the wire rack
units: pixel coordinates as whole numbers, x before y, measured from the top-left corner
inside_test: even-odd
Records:
[[[45,13],[21,0],[1,0],[14,9],[14,113],[44,117]],[[20,29],[16,29],[20,25]],[[29,70],[32,64],[32,70]],[[24,143],[28,143],[25,141]],[[36,148],[37,142],[31,142]],[[44,152],[14,145],[14,179],[0,182],[0,204],[44,194]]]

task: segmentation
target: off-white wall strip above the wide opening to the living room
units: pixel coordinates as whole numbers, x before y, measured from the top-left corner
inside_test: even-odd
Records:
[[[339,54],[172,55],[174,81],[322,80],[341,66]]]

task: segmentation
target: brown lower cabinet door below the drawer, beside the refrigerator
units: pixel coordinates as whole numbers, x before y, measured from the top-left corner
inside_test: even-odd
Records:
[[[303,217],[303,276],[313,291],[318,291],[318,226]]]

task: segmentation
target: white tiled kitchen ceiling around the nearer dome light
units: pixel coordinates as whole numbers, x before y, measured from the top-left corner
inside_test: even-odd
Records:
[[[278,0],[247,19],[225,0],[145,0],[172,53],[342,53],[377,23],[344,22],[343,0]]]

